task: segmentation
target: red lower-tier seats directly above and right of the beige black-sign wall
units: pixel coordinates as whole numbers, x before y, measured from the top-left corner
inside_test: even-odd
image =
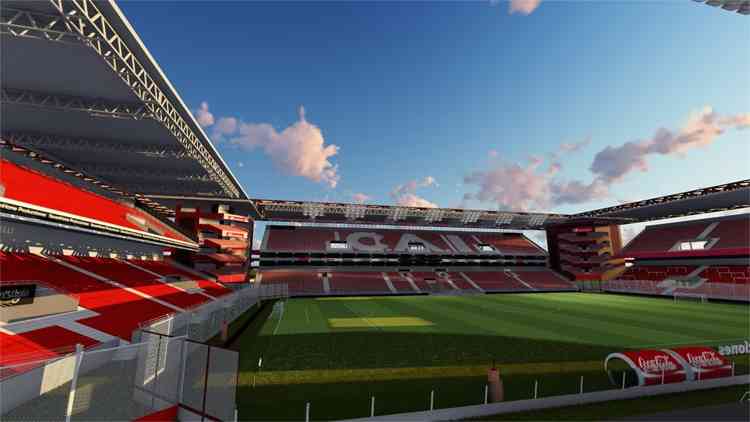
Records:
[[[99,315],[77,322],[130,341],[139,324],[174,310],[51,260],[31,254],[0,252],[0,281],[40,280],[78,299]]]

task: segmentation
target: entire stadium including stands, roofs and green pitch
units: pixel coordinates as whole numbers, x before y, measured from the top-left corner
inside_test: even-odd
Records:
[[[577,214],[254,198],[113,0],[0,12],[3,420],[747,401],[750,179]]]

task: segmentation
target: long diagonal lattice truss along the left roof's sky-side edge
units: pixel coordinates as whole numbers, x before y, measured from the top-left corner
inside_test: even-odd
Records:
[[[107,21],[93,0],[50,0],[69,27],[109,65],[140,98],[172,135],[232,198],[241,196],[239,187],[201,142],[179,110],[159,88],[149,72]]]

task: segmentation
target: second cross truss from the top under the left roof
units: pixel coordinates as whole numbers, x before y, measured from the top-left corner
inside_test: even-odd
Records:
[[[0,102],[53,110],[80,111],[96,117],[143,120],[153,118],[153,114],[142,104],[118,104],[93,98],[72,97],[3,88]]]

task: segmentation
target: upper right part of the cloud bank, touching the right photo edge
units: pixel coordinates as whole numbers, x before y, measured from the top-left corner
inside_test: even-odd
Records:
[[[590,170],[603,182],[614,183],[632,171],[648,171],[649,155],[683,155],[693,148],[711,145],[728,129],[748,127],[750,113],[722,117],[705,107],[693,113],[679,131],[659,128],[648,139],[604,148],[594,157]]]

